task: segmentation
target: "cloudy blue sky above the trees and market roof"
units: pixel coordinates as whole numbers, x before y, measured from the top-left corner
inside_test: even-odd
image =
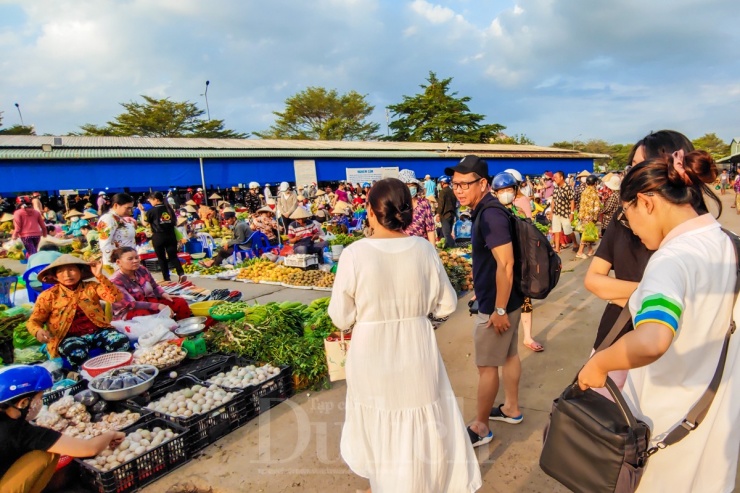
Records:
[[[64,134],[141,94],[242,132],[308,86],[376,107],[430,70],[537,144],[740,137],[736,0],[0,0],[3,125]]]

